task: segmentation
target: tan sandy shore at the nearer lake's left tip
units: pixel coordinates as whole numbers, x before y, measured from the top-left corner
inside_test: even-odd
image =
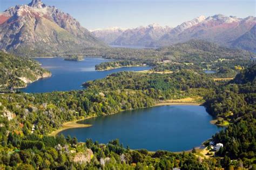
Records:
[[[56,136],[59,132],[67,130],[69,128],[90,127],[92,125],[79,124],[78,121],[90,119],[90,118],[93,118],[93,117],[96,117],[96,116],[87,117],[87,118],[79,119],[79,120],[75,120],[75,121],[68,121],[66,123],[63,123],[62,124],[62,128],[60,128],[60,129],[58,129],[56,131],[51,132],[49,135],[50,136]]]

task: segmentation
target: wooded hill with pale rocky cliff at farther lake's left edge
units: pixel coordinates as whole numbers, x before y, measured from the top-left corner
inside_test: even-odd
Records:
[[[51,73],[41,68],[35,60],[10,55],[0,51],[0,89],[25,87]]]

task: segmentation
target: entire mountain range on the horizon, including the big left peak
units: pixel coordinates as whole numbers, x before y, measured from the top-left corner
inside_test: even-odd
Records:
[[[109,45],[161,47],[201,39],[256,51],[255,17],[199,16],[175,28],[151,24],[134,29],[89,31],[55,6],[32,0],[0,13],[0,50],[26,57],[98,54]]]

